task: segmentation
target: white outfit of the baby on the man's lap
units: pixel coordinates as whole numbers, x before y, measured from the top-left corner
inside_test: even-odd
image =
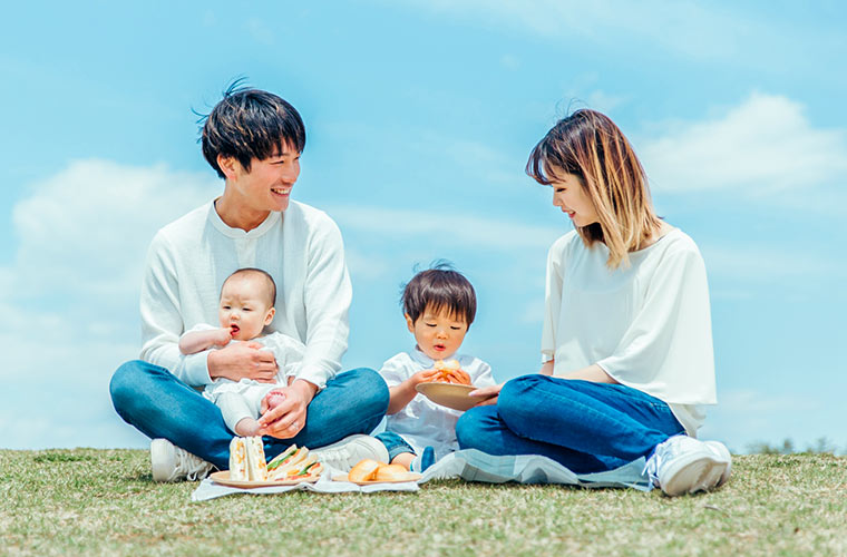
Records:
[[[199,324],[191,331],[210,331],[216,329],[211,325]],[[231,341],[241,342],[241,341]],[[230,379],[217,378],[207,384],[203,395],[217,404],[221,413],[224,416],[226,427],[233,432],[235,424],[244,418],[259,418],[261,416],[262,399],[273,389],[288,387],[289,377],[294,377],[298,372],[296,364],[303,360],[305,344],[286,334],[273,332],[265,336],[257,336],[249,342],[257,342],[270,350],[276,359],[279,370],[273,383],[260,383],[253,379],[242,379],[232,381]]]

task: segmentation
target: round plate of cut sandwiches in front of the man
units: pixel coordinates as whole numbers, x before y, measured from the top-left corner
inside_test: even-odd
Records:
[[[292,444],[266,462],[261,437],[235,437],[230,442],[230,469],[210,478],[222,486],[257,488],[314,482],[322,471],[323,465],[305,447]]]

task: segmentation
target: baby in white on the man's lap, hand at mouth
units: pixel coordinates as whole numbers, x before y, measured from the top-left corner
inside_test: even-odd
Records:
[[[225,346],[232,341],[253,341],[271,350],[276,358],[276,382],[260,383],[251,379],[231,381],[215,379],[206,385],[204,397],[221,408],[226,427],[237,436],[250,437],[259,432],[257,418],[262,399],[273,389],[289,384],[294,367],[303,359],[305,345],[280,332],[262,336],[276,313],[276,284],[266,272],[259,268],[240,268],[231,274],[221,289],[217,307],[220,328],[197,325],[179,338],[179,351],[194,354],[204,350]],[[282,394],[280,393],[282,397]],[[269,399],[269,407],[280,401]]]

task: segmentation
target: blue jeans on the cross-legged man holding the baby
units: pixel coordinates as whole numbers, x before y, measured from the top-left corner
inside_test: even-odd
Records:
[[[221,469],[230,466],[230,441],[221,410],[165,368],[135,360],[111,377],[118,414],[149,438],[165,438]],[[292,439],[265,437],[273,458],[291,443],[324,447],[353,433],[370,433],[388,410],[388,387],[366,368],[339,373],[309,404],[305,426]]]

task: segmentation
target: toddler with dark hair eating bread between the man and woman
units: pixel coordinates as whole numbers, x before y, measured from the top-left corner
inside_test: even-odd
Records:
[[[474,286],[446,264],[418,273],[403,289],[406,324],[416,346],[382,364],[389,387],[386,431],[376,437],[388,449],[392,465],[426,470],[435,460],[459,448],[456,421],[461,412],[436,404],[415,388],[436,380],[439,360],[457,360],[475,387],[495,384],[491,368],[456,352],[476,314]]]

